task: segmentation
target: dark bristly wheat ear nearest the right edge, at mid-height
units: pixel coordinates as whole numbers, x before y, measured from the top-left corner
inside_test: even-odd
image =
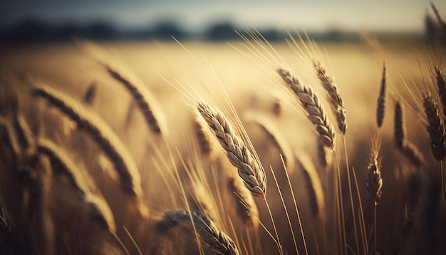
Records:
[[[445,123],[440,116],[438,105],[434,102],[431,95],[425,95],[423,98],[425,114],[427,116],[427,131],[430,135],[430,149],[435,159],[445,160],[446,157],[446,132]]]

